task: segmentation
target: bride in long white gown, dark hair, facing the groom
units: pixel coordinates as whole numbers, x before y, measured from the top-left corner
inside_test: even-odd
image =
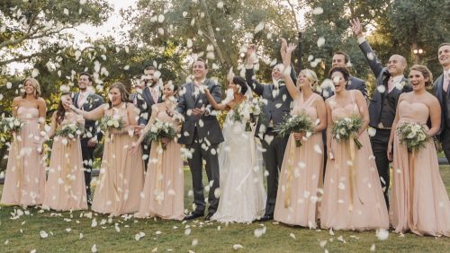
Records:
[[[262,164],[258,162],[261,153],[254,133],[246,131],[247,120],[233,117],[239,105],[250,102],[244,95],[247,91],[250,92],[247,83],[240,76],[230,80],[227,98],[220,104],[205,90],[214,109],[228,111],[222,130],[225,141],[219,148],[220,202],[211,217],[218,222],[253,222],[265,211],[266,191]]]

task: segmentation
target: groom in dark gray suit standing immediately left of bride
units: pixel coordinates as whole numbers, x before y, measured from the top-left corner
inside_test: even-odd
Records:
[[[193,82],[182,85],[176,110],[184,115],[180,144],[192,151],[188,159],[189,169],[193,176],[193,213],[184,217],[192,220],[204,215],[205,199],[203,196],[202,161],[205,161],[206,175],[210,182],[208,202],[210,204],[206,220],[219,205],[219,161],[217,148],[223,142],[219,121],[215,114],[211,114],[211,105],[206,99],[204,89],[211,92],[217,103],[221,101],[221,87],[211,79],[206,79],[208,66],[202,59],[193,62]],[[217,192],[216,192],[217,191]]]

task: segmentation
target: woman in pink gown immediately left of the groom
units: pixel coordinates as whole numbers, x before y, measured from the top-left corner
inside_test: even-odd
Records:
[[[177,91],[178,86],[172,82],[164,85],[164,101],[152,106],[150,120],[139,140],[130,147],[131,153],[139,149],[145,134],[155,121],[170,122],[177,132],[180,130],[180,122],[174,117]],[[166,144],[166,150],[157,143],[151,144],[139,212],[135,216],[139,218],[157,216],[166,220],[182,221],[184,218],[184,172],[181,145],[176,140],[163,140],[163,143]]]

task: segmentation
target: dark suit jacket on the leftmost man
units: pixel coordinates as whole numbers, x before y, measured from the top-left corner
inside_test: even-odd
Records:
[[[85,111],[91,111],[96,109],[97,107],[103,105],[104,100],[101,96],[92,93],[89,94],[87,99],[85,100],[85,103],[81,108],[78,108],[78,95],[79,92],[73,93],[72,97],[74,100],[74,105],[77,109],[83,109]],[[95,126],[95,120],[85,120],[85,135],[82,136],[82,139],[90,139],[92,137],[96,136],[97,140],[100,141],[102,139],[102,134],[100,131],[97,131],[97,128]]]

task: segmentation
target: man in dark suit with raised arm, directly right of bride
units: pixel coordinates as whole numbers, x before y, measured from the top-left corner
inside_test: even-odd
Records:
[[[267,176],[266,213],[260,219],[260,221],[265,222],[274,219],[278,174],[282,168],[284,150],[289,138],[289,136],[277,137],[274,133],[274,126],[283,123],[284,117],[290,113],[293,98],[287,91],[282,78],[284,65],[275,65],[272,70],[273,83],[261,84],[254,79],[254,53],[255,48],[253,46],[247,48],[246,81],[253,92],[267,100],[267,104],[263,108],[267,122],[262,123],[258,121],[255,131],[255,135],[261,140],[263,148],[266,150],[264,161],[266,170],[269,172]],[[293,68],[291,77],[293,78],[293,83],[297,83],[297,76]]]

